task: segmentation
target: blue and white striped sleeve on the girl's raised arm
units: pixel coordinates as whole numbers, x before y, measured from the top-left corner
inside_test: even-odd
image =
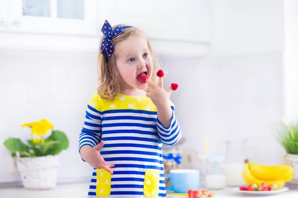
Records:
[[[172,146],[176,144],[181,139],[181,129],[178,120],[175,116],[174,105],[172,108],[172,118],[169,127],[164,127],[157,117],[157,134],[158,139],[164,145]]]

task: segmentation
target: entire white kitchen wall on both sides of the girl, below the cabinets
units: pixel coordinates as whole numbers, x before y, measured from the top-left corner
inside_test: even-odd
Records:
[[[168,68],[165,86],[179,84],[171,99],[188,147],[203,153],[208,139],[224,152],[224,140],[249,138],[250,158],[281,162],[283,149],[271,133],[282,115],[282,2],[213,0],[211,56],[161,56]],[[11,172],[4,139],[27,138],[29,129],[20,125],[42,117],[70,139],[59,181],[90,177],[77,153],[77,137],[86,101],[97,86],[96,56],[0,50],[0,182],[19,181],[18,173]]]

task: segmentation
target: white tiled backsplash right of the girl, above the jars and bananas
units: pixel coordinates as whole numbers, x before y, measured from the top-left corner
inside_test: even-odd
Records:
[[[172,100],[187,139],[183,148],[204,154],[206,139],[224,154],[224,141],[247,138],[243,159],[282,162],[274,137],[283,110],[281,51],[163,61],[165,84],[180,85]]]

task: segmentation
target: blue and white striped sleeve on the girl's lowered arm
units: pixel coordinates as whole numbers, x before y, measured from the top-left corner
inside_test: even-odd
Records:
[[[95,147],[101,140],[101,112],[92,106],[95,107],[95,103],[91,98],[87,105],[84,124],[79,135],[79,153],[83,146],[89,145],[91,147]]]

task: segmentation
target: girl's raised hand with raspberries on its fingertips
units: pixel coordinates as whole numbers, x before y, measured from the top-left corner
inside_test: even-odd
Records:
[[[157,85],[147,79],[146,83],[149,85],[146,96],[152,100],[157,109],[169,106],[169,99],[172,93],[172,87],[170,86],[167,91],[163,89],[163,78],[159,77]]]

